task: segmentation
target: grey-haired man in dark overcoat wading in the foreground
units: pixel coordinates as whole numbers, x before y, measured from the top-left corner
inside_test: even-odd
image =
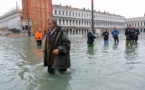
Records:
[[[55,18],[49,18],[44,46],[44,66],[48,66],[49,73],[54,73],[55,70],[64,73],[70,68],[70,47],[67,32],[57,26]]]

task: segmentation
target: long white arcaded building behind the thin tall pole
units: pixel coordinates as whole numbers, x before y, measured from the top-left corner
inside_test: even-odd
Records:
[[[91,10],[78,9],[71,6],[53,5],[53,16],[57,18],[58,25],[62,26],[69,34],[82,35],[91,27]],[[94,28],[112,29],[125,27],[125,18],[108,12],[94,11]]]

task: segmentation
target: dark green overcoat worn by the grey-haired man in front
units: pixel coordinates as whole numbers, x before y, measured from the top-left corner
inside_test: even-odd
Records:
[[[70,47],[71,42],[68,38],[67,32],[56,27],[51,43],[50,37],[47,34],[44,46],[44,66],[51,65],[54,69],[70,68]],[[53,50],[59,49],[59,54],[54,55]]]

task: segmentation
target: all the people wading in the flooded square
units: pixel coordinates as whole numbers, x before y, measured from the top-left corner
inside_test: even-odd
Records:
[[[119,31],[116,27],[114,27],[111,34],[114,38],[114,42],[119,43]],[[133,45],[134,43],[137,43],[139,34],[140,32],[138,28],[132,28],[131,25],[128,25],[125,29],[126,45]],[[108,44],[109,32],[107,29],[104,29],[102,36],[104,38],[104,44]],[[68,38],[67,32],[57,25],[57,20],[55,18],[50,17],[48,19],[48,30],[45,32],[45,35],[42,34],[41,30],[38,30],[35,33],[37,46],[42,45],[44,37],[44,66],[48,67],[48,73],[52,74],[55,73],[55,71],[58,71],[61,74],[65,73],[71,66],[71,42]],[[92,46],[96,36],[91,28],[89,29],[87,37],[88,46]]]

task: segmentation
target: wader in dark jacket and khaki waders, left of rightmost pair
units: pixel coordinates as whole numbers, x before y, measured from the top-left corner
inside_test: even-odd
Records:
[[[125,29],[125,35],[126,35],[126,46],[128,46],[129,44],[132,46],[134,44],[135,29],[132,28],[130,24]]]

